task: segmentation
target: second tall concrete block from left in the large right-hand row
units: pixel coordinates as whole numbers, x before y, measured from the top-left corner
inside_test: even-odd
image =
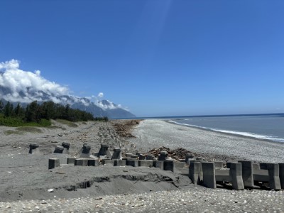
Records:
[[[202,162],[203,185],[212,189],[216,188],[215,165],[213,162]]]

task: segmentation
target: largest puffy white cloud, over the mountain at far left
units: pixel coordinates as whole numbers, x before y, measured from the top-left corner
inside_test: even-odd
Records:
[[[20,69],[20,63],[18,60],[10,60],[0,63],[0,86],[9,88],[11,92],[4,95],[4,99],[9,99],[14,102],[31,102],[34,97],[40,97],[44,92],[52,97],[58,97],[60,95],[68,95],[69,89],[62,87],[60,84],[50,82],[44,77],[40,76],[40,70],[35,72],[26,72]],[[30,99],[27,99],[30,97]],[[40,100],[40,99],[39,99]],[[54,102],[59,103],[60,100],[54,98]]]

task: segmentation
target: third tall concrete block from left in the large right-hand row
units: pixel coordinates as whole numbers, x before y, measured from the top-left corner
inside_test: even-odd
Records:
[[[241,163],[231,163],[231,185],[235,190],[244,190],[244,182],[241,174]]]

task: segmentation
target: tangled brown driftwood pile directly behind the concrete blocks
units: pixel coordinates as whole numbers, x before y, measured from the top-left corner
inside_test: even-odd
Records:
[[[187,153],[192,153],[191,151],[188,151],[185,148],[176,148],[174,150],[170,150],[170,148],[166,148],[165,146],[162,146],[160,148],[151,149],[151,151],[148,151],[148,154],[155,155],[155,158],[158,158],[160,151],[167,151],[168,156],[175,160],[185,159],[185,155]],[[192,153],[192,154],[196,155],[195,153]]]

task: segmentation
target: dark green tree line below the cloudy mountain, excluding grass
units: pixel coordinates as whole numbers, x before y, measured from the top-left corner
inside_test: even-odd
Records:
[[[16,107],[7,102],[4,104],[0,100],[0,114],[4,118],[17,118],[24,122],[36,122],[40,123],[43,119],[65,119],[68,121],[94,121],[104,120],[107,121],[107,117],[94,118],[94,116],[80,109],[72,109],[67,104],[63,106],[61,104],[55,104],[54,102],[43,102],[38,104],[37,101],[31,102],[26,107],[22,107],[21,104],[17,104]]]

